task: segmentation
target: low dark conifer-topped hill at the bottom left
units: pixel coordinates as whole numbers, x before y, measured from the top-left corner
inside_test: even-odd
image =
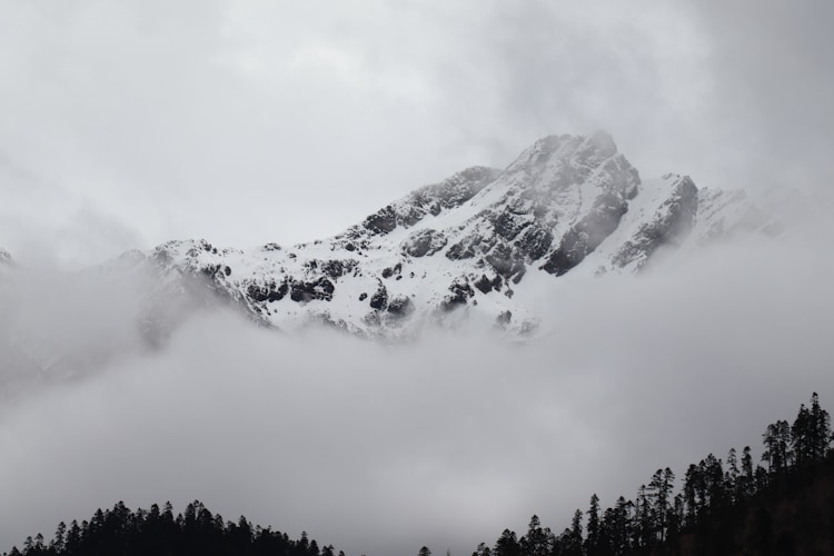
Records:
[[[344,556],[342,552],[338,553]],[[246,517],[224,522],[200,502],[193,502],[175,517],[170,503],[161,509],[131,512],[123,503],[96,510],[80,525],[64,523],[51,539],[28,537],[3,556],[336,556],[332,546],[319,548],[302,533],[298,540],[286,533],[254,527]]]

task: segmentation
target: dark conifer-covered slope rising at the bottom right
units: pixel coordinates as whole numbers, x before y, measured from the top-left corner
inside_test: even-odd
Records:
[[[709,454],[685,471],[657,469],[633,499],[602,509],[590,497],[560,534],[533,516],[518,537],[505,529],[473,556],[791,555],[834,554],[834,451],[831,417],[814,393],[793,424],[764,435],[762,466],[749,446],[726,460]]]

